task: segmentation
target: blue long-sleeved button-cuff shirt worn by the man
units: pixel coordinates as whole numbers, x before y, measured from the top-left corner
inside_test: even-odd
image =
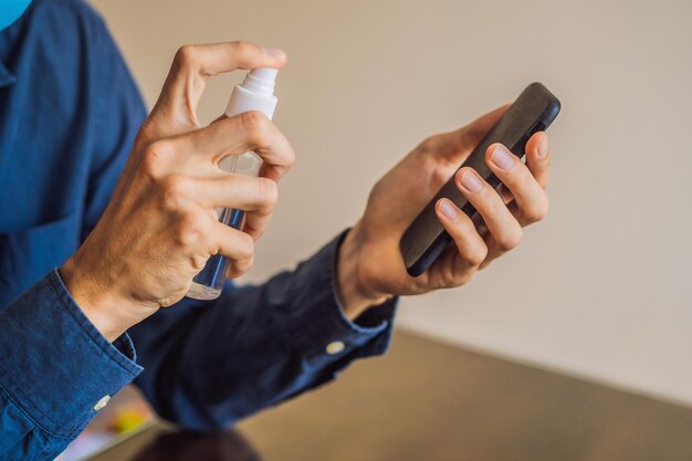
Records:
[[[0,32],[0,459],[52,459],[133,380],[162,417],[218,428],[381,354],[396,302],[348,321],[342,235],[258,286],[182,300],[113,344],[55,268],[99,219],[146,116],[103,20],[35,0]],[[329,348],[343,342],[345,348]],[[338,352],[337,352],[338,350]]]

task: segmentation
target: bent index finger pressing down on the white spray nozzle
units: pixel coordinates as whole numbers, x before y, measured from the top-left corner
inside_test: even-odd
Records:
[[[199,126],[197,105],[209,77],[238,69],[281,69],[286,54],[254,43],[227,42],[186,45],[178,50],[151,117],[161,118],[172,132],[184,126]]]

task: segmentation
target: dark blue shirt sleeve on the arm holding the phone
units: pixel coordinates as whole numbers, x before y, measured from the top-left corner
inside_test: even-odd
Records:
[[[164,418],[192,429],[227,427],[385,353],[397,300],[356,322],[335,292],[343,235],[294,271],[184,300],[130,329],[145,371],[136,384]]]

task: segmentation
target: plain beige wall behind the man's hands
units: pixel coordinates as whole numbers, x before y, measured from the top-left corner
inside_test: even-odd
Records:
[[[470,285],[403,300],[398,325],[692,404],[689,0],[94,3],[149,104],[180,44],[289,52],[275,122],[298,160],[252,281],[352,224],[426,136],[544,82],[563,102],[548,219]],[[211,82],[202,121],[240,77]]]

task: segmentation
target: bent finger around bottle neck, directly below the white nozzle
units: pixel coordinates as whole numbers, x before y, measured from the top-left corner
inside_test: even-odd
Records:
[[[279,180],[295,161],[295,151],[276,125],[261,112],[227,117],[178,138],[178,150],[186,156],[205,157],[218,165],[229,155],[256,153],[270,179]]]

